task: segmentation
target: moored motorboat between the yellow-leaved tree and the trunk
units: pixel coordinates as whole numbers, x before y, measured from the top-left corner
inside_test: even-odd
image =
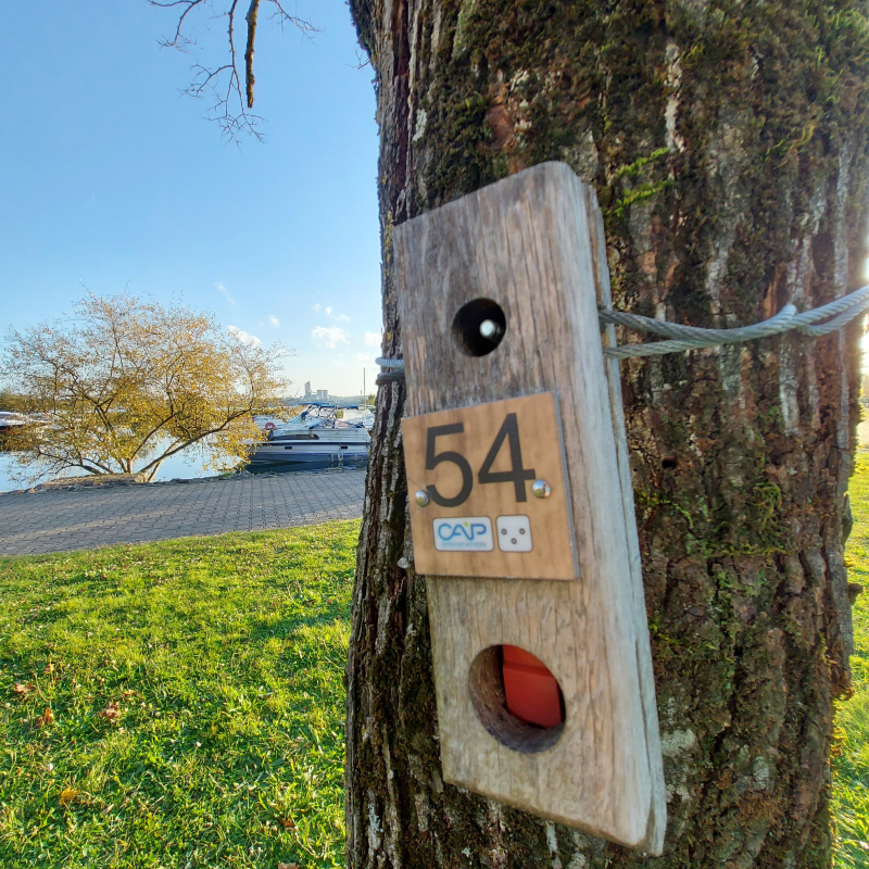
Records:
[[[289,423],[257,419],[267,440],[255,444],[251,469],[362,467],[368,461],[371,438],[362,420],[344,421],[337,414],[333,404],[312,403]]]

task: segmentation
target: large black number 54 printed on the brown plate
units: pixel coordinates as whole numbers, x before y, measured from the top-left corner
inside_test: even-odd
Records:
[[[467,458],[462,453],[456,453],[452,450],[444,450],[441,453],[436,452],[438,438],[445,438],[448,434],[462,434],[464,431],[464,423],[453,423],[450,426],[431,426],[426,430],[426,470],[433,470],[443,462],[452,462],[462,474],[462,488],[454,498],[445,498],[434,486],[426,487],[428,496],[442,507],[457,507],[459,504],[464,504],[474,488],[474,473]],[[493,471],[492,465],[505,440],[509,448],[511,469]],[[492,445],[489,448],[477,479],[480,483],[512,482],[516,488],[516,500],[527,501],[528,495],[525,491],[525,483],[528,480],[533,480],[534,477],[537,477],[537,474],[533,468],[522,467],[519,423],[516,419],[516,414],[507,414],[498,434],[495,434],[495,439],[492,441]]]

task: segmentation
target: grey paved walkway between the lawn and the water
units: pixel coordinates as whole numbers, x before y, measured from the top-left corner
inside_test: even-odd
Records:
[[[364,470],[333,470],[0,495],[0,555],[355,519],[364,488]]]

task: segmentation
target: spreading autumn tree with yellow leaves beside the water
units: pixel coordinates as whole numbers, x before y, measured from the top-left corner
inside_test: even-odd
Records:
[[[10,332],[0,376],[37,421],[7,449],[32,480],[71,470],[151,480],[193,444],[209,466],[228,467],[263,440],[255,414],[286,412],[286,355],[181,304],[88,295],[70,317]]]

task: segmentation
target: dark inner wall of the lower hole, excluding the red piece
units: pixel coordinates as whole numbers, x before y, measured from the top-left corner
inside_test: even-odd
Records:
[[[555,745],[564,732],[565,713],[561,685],[557,690],[562,721],[554,727],[539,727],[524,721],[507,708],[503,646],[483,648],[474,659],[468,673],[470,702],[480,723],[502,745],[526,754],[545,752]]]

